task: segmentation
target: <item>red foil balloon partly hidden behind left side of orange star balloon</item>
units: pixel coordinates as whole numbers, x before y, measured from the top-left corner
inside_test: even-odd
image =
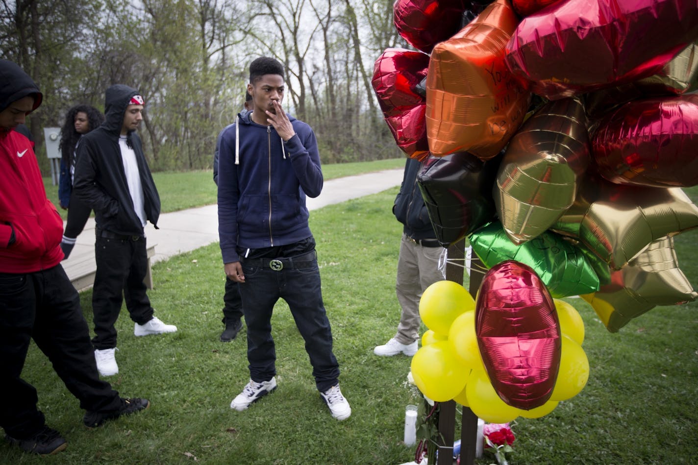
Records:
[[[389,48],[373,67],[373,90],[395,142],[412,158],[429,156],[426,140],[426,96],[419,83],[426,77],[429,55]]]

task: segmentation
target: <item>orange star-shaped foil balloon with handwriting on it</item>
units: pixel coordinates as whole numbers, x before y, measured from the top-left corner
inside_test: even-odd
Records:
[[[426,75],[426,135],[432,155],[470,152],[488,160],[518,130],[530,93],[504,61],[517,22],[510,4],[498,0],[433,48]]]

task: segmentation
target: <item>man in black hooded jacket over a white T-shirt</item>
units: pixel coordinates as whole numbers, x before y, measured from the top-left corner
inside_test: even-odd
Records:
[[[92,293],[97,368],[102,376],[119,372],[114,359],[122,293],[134,334],[175,332],[153,316],[143,282],[147,273],[144,226],[156,228],[160,196],[135,130],[142,121],[143,98],[116,84],[107,89],[105,121],[84,135],[77,148],[73,190],[96,216],[97,272]]]

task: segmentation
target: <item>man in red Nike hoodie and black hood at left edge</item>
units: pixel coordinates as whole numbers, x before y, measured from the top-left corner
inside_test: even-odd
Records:
[[[80,400],[87,427],[149,401],[119,397],[97,373],[80,297],[61,267],[63,221],[46,198],[31,142],[13,131],[42,99],[29,75],[0,59],[0,427],[9,443],[47,455],[66,440],[47,427],[36,389],[20,378],[30,339]]]

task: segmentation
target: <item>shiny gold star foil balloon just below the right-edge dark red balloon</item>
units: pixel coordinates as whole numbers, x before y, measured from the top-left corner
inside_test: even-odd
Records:
[[[697,226],[698,207],[680,188],[621,186],[588,175],[551,229],[577,237],[620,270],[655,240]]]

